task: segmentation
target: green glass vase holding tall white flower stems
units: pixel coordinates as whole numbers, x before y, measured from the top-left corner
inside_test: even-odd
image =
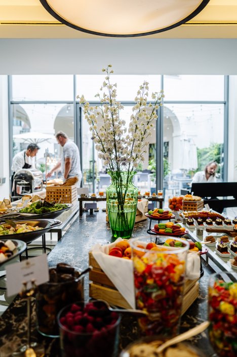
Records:
[[[107,171],[111,184],[106,188],[108,219],[114,238],[131,238],[137,211],[138,189],[132,179],[137,171]]]

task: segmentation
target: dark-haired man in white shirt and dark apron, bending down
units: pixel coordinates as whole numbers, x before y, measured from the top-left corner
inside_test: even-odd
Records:
[[[13,160],[12,160],[13,174],[11,176],[12,191],[13,191],[13,177],[14,177],[15,173],[21,169],[31,169],[33,167],[32,157],[34,157],[37,154],[38,149],[39,149],[39,146],[37,144],[32,143],[27,146],[26,150],[18,152],[18,154],[16,154],[13,157]]]

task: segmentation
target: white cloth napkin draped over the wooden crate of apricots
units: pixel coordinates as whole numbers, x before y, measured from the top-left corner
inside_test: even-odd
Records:
[[[133,278],[133,262],[129,259],[108,255],[109,250],[120,242],[106,245],[96,244],[92,248],[92,254],[104,273],[115,285],[120,294],[127,300],[132,309],[136,308],[135,289]],[[129,242],[129,240],[128,240]],[[186,279],[195,280],[200,277],[200,255],[195,252],[187,254]]]

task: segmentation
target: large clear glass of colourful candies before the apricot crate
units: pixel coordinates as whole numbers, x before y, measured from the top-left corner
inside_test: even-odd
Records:
[[[164,246],[169,236],[132,240],[137,309],[148,312],[139,319],[143,335],[178,334],[189,243],[172,237],[180,247]]]

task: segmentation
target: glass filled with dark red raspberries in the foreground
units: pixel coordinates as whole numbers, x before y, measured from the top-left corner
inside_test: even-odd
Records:
[[[58,314],[62,357],[116,357],[120,321],[101,301],[66,306]]]

